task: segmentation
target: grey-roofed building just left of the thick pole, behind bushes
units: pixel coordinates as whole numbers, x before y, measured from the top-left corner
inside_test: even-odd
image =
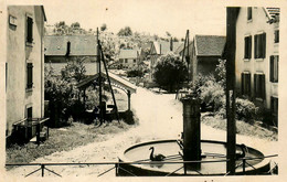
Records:
[[[190,74],[191,81],[198,75],[209,75],[215,72],[225,45],[222,35],[195,35],[192,41]]]

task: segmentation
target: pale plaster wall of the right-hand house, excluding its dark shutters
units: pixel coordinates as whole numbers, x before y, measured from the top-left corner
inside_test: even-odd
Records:
[[[270,108],[270,96],[277,95],[277,83],[269,82],[269,56],[278,55],[278,43],[274,43],[274,30],[278,29],[278,23],[267,23],[268,18],[263,8],[253,8],[253,19],[247,21],[247,8],[241,8],[236,23],[236,89],[241,92],[241,73],[251,72],[251,89],[254,97],[254,74],[263,72],[265,74],[266,100],[262,104]],[[266,56],[265,58],[254,58],[254,35],[261,32],[266,33]],[[244,38],[252,35],[252,58],[244,60]],[[255,99],[256,100],[256,99]]]

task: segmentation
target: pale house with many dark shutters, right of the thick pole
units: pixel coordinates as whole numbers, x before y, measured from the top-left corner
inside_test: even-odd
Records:
[[[279,8],[240,8],[236,21],[236,89],[278,115]]]

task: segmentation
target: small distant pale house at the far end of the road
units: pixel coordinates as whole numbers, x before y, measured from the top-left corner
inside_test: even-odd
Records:
[[[119,64],[126,68],[136,67],[139,62],[139,51],[138,50],[124,50],[119,51]]]

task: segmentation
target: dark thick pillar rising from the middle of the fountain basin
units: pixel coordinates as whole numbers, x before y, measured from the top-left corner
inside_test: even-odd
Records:
[[[183,104],[183,160],[201,160],[200,99],[187,95]],[[199,170],[201,163],[188,163],[187,169]]]

